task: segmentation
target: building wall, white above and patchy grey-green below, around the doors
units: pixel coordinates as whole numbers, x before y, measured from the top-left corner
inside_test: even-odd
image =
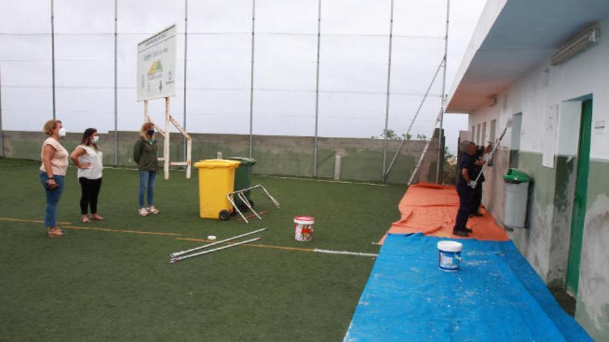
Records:
[[[609,32],[609,19],[601,21]],[[483,204],[499,222],[503,220],[503,184],[510,158],[529,173],[529,228],[511,233],[514,243],[549,285],[564,285],[576,180],[581,102],[592,99],[592,142],[587,209],[579,273],[576,319],[597,341],[609,341],[609,132],[594,129],[609,123],[609,37],[558,66],[549,60],[497,95],[496,103],[470,115],[469,127],[497,120],[497,132],[522,113],[520,134],[510,131],[493,167],[485,173]],[[558,109],[556,109],[558,108]],[[556,135],[548,135],[547,113],[558,113]],[[476,133],[477,135],[478,133]],[[520,138],[518,151],[510,151]],[[548,152],[549,151],[549,152]],[[544,153],[553,162],[543,166]],[[513,162],[514,160],[512,160]]]

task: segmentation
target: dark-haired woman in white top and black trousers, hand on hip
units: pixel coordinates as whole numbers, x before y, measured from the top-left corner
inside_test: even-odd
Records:
[[[86,129],[82,134],[80,145],[71,153],[70,158],[78,167],[78,181],[80,182],[80,213],[82,222],[91,222],[87,217],[91,207],[91,218],[93,220],[104,220],[98,215],[98,196],[102,187],[102,165],[103,154],[98,148],[100,136],[96,129]]]

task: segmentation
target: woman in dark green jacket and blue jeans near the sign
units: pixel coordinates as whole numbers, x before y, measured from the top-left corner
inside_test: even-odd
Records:
[[[140,139],[134,146],[134,161],[140,170],[140,189],[138,213],[147,216],[149,213],[159,213],[154,207],[154,181],[158,169],[156,156],[156,140],[154,140],[154,124],[146,122],[140,129]],[[147,205],[144,205],[144,195],[147,192]]]

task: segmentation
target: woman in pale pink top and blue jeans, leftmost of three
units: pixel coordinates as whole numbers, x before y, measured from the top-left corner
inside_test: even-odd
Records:
[[[48,135],[42,143],[42,165],[39,171],[40,182],[46,194],[44,225],[49,238],[60,238],[66,235],[57,226],[57,204],[64,192],[64,177],[68,171],[68,151],[60,144],[60,139],[66,136],[66,129],[60,120],[48,120],[43,131]]]

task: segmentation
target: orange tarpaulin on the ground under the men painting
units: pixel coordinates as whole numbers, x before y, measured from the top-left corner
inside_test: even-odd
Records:
[[[419,183],[408,187],[408,191],[398,205],[401,219],[393,222],[387,234],[423,233],[444,238],[462,238],[453,235],[453,226],[459,196],[455,187]],[[482,217],[473,217],[467,221],[467,227],[473,229],[470,238],[477,240],[508,241],[505,231],[499,227],[490,213],[481,210]],[[385,236],[387,236],[385,234]],[[379,241],[385,240],[385,236]]]

